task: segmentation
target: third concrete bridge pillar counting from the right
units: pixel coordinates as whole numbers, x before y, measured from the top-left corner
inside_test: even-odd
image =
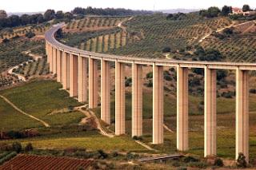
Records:
[[[177,149],[188,150],[188,69],[177,67]]]

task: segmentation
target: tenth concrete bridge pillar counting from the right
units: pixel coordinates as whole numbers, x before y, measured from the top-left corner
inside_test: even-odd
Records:
[[[70,54],[70,97],[78,96],[78,57]]]

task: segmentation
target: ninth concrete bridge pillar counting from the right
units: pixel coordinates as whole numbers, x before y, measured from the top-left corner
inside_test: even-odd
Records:
[[[87,58],[78,57],[78,101],[87,101]]]

